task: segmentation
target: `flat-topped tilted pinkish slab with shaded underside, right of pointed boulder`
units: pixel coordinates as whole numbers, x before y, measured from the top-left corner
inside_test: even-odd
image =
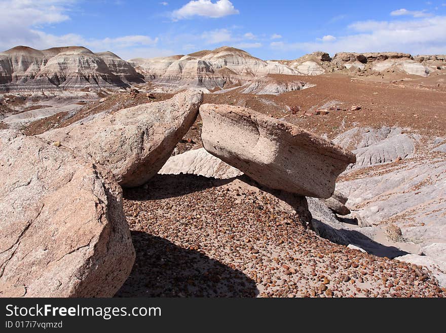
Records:
[[[266,187],[328,199],[355,156],[297,126],[248,108],[203,104],[204,148]]]

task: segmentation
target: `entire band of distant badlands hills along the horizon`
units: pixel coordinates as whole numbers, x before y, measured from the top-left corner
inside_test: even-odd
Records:
[[[281,94],[309,87],[283,84],[271,75],[316,76],[330,72],[373,76],[427,77],[446,69],[445,55],[318,51],[295,60],[262,60],[224,46],[187,55],[121,59],[112,52],[93,53],[81,46],[35,50],[17,46],[0,53],[0,92],[130,88],[151,82],[154,92],[197,88],[205,93]],[[287,82],[288,82],[287,81]]]

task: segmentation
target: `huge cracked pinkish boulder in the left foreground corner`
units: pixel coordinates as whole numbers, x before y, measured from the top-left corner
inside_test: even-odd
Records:
[[[134,258],[112,174],[0,131],[0,297],[112,297]]]

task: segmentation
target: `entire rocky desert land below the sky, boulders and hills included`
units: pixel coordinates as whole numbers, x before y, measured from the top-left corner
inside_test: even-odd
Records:
[[[445,297],[445,112],[446,55],[1,52],[0,297]]]

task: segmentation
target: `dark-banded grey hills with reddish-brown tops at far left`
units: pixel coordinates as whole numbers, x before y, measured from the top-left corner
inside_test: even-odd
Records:
[[[17,46],[0,53],[0,91],[129,87],[142,77],[112,52],[67,46],[35,50]]]

